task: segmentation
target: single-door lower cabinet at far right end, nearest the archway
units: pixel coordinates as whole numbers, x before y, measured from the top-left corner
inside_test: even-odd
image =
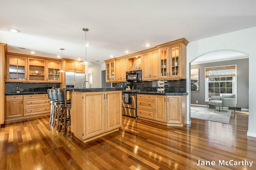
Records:
[[[183,126],[184,116],[186,116],[186,96],[167,96],[167,124]]]

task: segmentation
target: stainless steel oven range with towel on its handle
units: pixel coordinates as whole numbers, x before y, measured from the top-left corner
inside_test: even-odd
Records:
[[[122,91],[122,114],[130,117],[137,117],[137,96],[136,92],[140,90]]]

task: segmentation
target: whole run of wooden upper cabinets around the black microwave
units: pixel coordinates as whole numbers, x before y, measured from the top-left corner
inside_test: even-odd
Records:
[[[186,79],[187,45],[188,41],[182,38],[152,49],[106,60],[106,82],[125,82],[124,72],[140,69],[142,80],[145,81]]]

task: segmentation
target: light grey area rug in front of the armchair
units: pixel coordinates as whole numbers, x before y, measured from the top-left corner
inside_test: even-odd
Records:
[[[208,109],[204,107],[190,107],[190,117],[221,123],[228,123],[231,115],[230,110]]]

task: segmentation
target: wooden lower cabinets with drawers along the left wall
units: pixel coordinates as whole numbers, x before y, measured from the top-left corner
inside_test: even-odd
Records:
[[[42,113],[50,114],[47,94],[6,96],[6,118],[22,118]]]

